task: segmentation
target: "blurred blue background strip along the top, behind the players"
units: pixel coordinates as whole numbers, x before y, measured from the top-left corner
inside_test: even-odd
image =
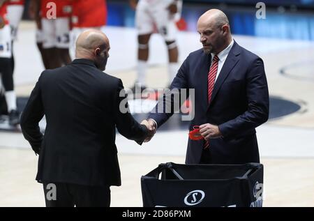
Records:
[[[266,5],[266,19],[257,19],[257,2],[259,1],[184,0],[182,17],[187,24],[186,31],[196,31],[197,19],[206,10],[219,8],[229,17],[234,34],[314,40],[314,0],[261,1]],[[28,4],[29,0],[26,0],[26,6]],[[134,26],[135,12],[129,7],[128,0],[107,0],[107,7],[108,26]],[[26,12],[24,19],[29,19]]]

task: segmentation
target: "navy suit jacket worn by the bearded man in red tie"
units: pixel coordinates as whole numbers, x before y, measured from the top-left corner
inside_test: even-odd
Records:
[[[190,53],[171,84],[171,89],[195,89],[195,117],[190,121],[190,130],[193,125],[204,123],[218,125],[223,137],[209,141],[212,163],[260,162],[255,128],[269,116],[269,93],[262,59],[234,42],[209,105],[210,64],[211,56],[202,49]],[[164,107],[167,106],[165,99],[163,102]],[[157,114],[151,113],[149,118],[154,119],[158,127],[172,115],[158,110],[157,106],[154,112]],[[203,145],[202,140],[188,140],[186,163],[200,162]]]

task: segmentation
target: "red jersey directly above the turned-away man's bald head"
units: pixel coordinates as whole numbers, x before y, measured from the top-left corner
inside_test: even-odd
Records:
[[[98,27],[107,23],[107,4],[105,0],[73,0],[72,26]]]

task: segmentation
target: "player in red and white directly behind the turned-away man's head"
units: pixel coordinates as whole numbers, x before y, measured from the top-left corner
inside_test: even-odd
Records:
[[[75,42],[80,33],[87,29],[101,30],[107,24],[107,3],[105,0],[72,0],[70,31],[70,56],[75,59]]]

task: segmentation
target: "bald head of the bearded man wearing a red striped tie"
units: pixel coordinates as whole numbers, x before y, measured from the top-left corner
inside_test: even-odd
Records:
[[[200,42],[207,54],[218,54],[232,42],[230,25],[225,13],[218,9],[207,10],[197,21]]]

